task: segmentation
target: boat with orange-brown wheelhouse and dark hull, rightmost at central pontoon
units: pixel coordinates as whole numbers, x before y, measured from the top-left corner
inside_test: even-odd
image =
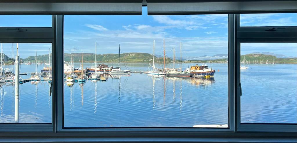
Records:
[[[214,73],[216,72],[216,70],[208,68],[206,64],[203,64],[201,66],[196,64],[195,66],[191,66],[190,69],[187,68],[186,71],[190,71],[191,76],[193,77],[214,77]]]

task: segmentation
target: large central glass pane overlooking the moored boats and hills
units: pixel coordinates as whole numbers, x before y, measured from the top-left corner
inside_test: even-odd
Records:
[[[228,127],[228,15],[64,22],[64,127]]]

